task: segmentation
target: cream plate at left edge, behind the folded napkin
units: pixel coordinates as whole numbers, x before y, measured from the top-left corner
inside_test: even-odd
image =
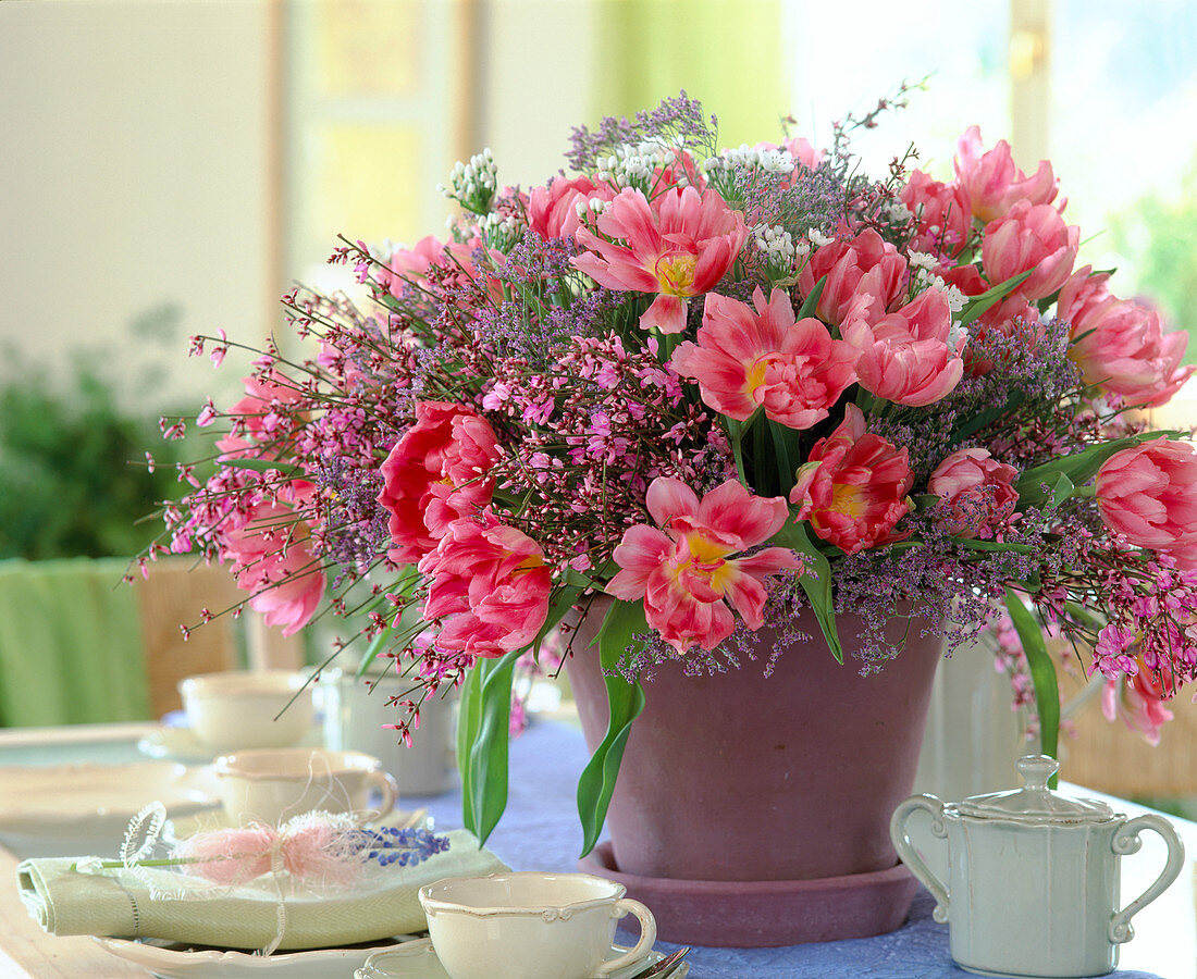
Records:
[[[0,845],[23,858],[115,856],[154,801],[172,817],[219,804],[202,771],[170,761],[0,766]]]

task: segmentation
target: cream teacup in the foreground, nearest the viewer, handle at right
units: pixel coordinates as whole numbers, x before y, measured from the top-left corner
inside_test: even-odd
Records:
[[[429,935],[450,979],[593,979],[642,961],[657,923],[626,888],[590,874],[448,877],[420,888]],[[640,922],[640,941],[616,959],[615,923]]]

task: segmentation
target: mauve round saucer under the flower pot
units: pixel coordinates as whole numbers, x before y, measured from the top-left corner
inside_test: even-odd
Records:
[[[906,920],[918,886],[903,864],[808,881],[640,877],[615,866],[609,840],[578,869],[624,884],[628,898],[652,908],[657,937],[682,945],[711,944],[712,936],[722,945],[765,948],[883,935]]]

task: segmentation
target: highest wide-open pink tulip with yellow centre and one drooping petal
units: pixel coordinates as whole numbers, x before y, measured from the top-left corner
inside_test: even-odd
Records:
[[[686,328],[687,298],[719,284],[748,235],[739,211],[693,187],[667,190],[651,205],[639,190],[622,190],[597,225],[606,238],[578,229],[590,251],[570,261],[607,288],[657,293],[640,326],[661,333]]]

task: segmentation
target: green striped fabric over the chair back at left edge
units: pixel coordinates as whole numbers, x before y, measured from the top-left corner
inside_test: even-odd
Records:
[[[0,561],[0,726],[150,717],[124,558]]]

